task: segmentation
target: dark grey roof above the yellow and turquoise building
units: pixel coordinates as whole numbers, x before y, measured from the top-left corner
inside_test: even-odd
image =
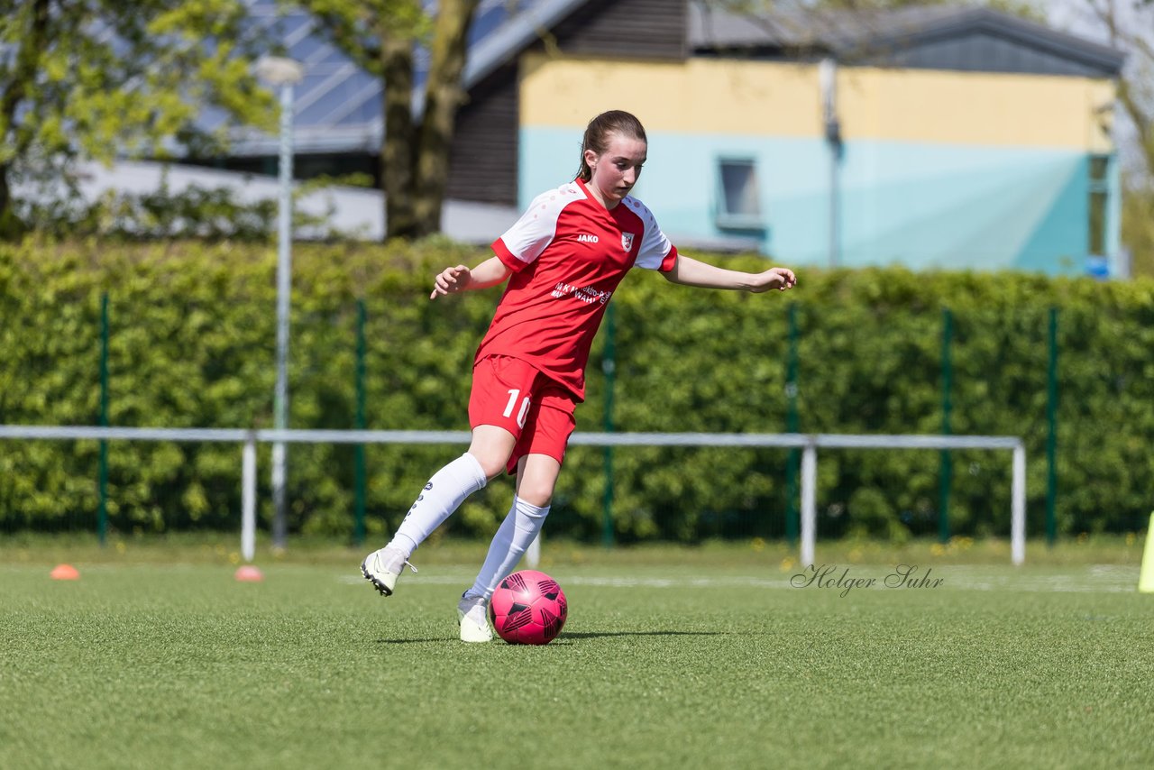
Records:
[[[1096,77],[1117,76],[1125,60],[1109,46],[967,6],[744,14],[690,0],[689,44],[697,53]]]

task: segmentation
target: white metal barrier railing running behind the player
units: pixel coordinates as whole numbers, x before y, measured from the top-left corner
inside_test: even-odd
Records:
[[[241,553],[252,561],[256,532],[256,444],[285,443],[469,443],[467,431],[245,431],[241,428],[114,428],[0,425],[0,439],[103,441],[222,441],[243,444],[241,455]],[[817,539],[817,450],[823,449],[1009,449],[1011,471],[1010,558],[1026,560],[1026,448],[1017,436],[853,435],[838,433],[575,433],[584,447],[799,448],[801,462],[801,563],[814,563]]]

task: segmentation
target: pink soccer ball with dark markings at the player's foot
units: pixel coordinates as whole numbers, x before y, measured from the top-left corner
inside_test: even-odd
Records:
[[[522,569],[501,581],[489,600],[489,621],[509,644],[548,644],[568,615],[565,592],[535,569]]]

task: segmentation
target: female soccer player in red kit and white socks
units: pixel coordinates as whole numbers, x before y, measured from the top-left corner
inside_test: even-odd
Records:
[[[796,284],[793,271],[758,274],[717,268],[677,254],[650,210],[629,190],[647,143],[640,121],[606,112],[585,129],[577,178],[538,195],[493,242],[494,256],[436,276],[429,299],[509,281],[473,362],[469,451],[437,471],[392,540],[370,553],[361,573],[390,596],[413,551],[465,498],[503,470],[516,473],[512,507],[472,588],[457,606],[460,638],[493,638],[486,606],[541,529],[574,409],[585,397],[585,364],[614,290],[632,267],[659,270],[672,283],[764,292]]]

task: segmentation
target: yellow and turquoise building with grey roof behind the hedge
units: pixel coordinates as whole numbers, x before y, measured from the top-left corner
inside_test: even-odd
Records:
[[[571,178],[593,114],[625,109],[650,140],[635,194],[675,242],[794,264],[1116,271],[1116,52],[949,8],[840,16],[840,37],[797,18],[787,46],[704,8],[688,7],[684,58],[519,55],[519,204]]]

